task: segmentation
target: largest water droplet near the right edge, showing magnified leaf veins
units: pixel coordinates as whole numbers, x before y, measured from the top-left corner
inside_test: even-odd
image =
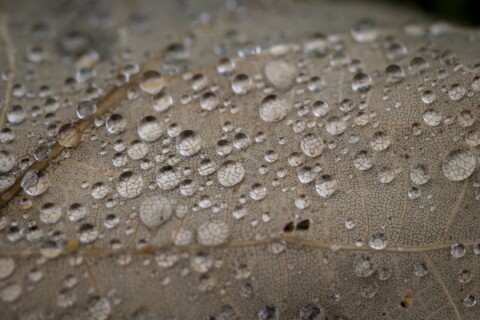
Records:
[[[448,180],[462,181],[473,173],[476,164],[477,158],[470,151],[456,149],[445,156],[442,172]]]

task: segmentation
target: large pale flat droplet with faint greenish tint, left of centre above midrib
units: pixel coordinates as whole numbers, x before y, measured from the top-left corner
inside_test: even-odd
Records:
[[[156,228],[172,216],[172,206],[167,198],[160,195],[150,196],[140,205],[140,220],[147,228]]]

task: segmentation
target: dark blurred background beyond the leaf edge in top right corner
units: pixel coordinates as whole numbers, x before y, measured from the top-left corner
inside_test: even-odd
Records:
[[[480,25],[480,0],[390,0],[399,5],[411,4],[427,14],[467,26]]]

